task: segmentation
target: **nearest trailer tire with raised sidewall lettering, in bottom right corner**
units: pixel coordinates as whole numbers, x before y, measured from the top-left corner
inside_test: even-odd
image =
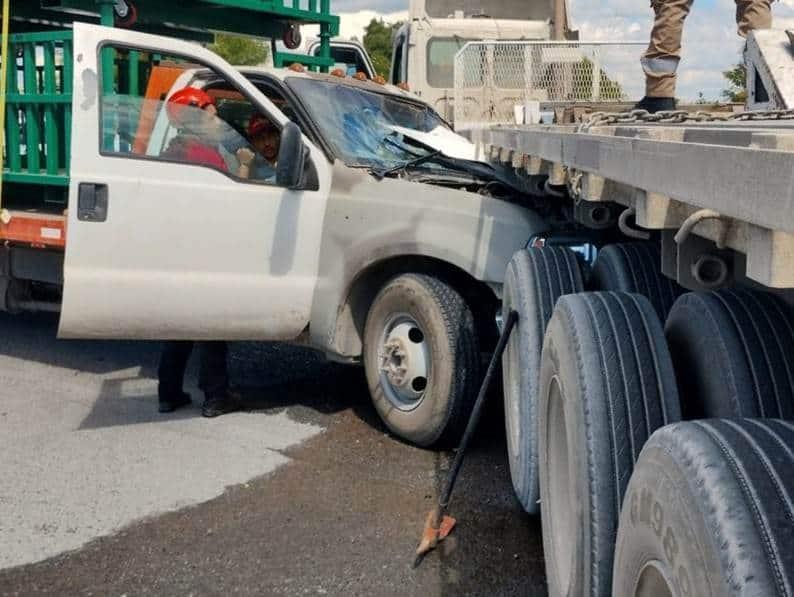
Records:
[[[615,597],[794,594],[794,425],[704,420],[657,431],[618,531]]]

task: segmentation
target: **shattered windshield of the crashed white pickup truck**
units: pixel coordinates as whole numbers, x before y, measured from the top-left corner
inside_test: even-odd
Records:
[[[429,156],[430,149],[405,133],[449,129],[429,107],[395,96],[298,77],[287,83],[348,166],[388,169]]]

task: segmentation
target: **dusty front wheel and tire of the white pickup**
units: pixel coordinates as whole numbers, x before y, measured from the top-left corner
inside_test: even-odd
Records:
[[[431,276],[392,279],[367,316],[364,368],[375,409],[395,435],[422,447],[450,445],[479,389],[471,310]]]

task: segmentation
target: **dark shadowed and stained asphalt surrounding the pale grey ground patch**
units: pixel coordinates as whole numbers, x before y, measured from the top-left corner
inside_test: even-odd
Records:
[[[159,343],[56,341],[56,323],[0,316],[0,355],[104,376],[82,428],[198,415],[195,363],[189,387],[196,407],[163,416],[155,395]],[[127,371],[135,367],[140,373]],[[458,527],[411,570],[451,453],[395,441],[372,407],[362,370],[310,350],[235,343],[230,374],[247,410],[286,409],[328,431],[291,449],[288,466],[215,500],[0,571],[0,594],[545,594],[540,522],[513,496],[498,388],[453,496]]]

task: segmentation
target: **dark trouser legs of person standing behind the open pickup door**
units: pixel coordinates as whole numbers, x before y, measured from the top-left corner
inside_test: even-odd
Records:
[[[185,368],[193,351],[193,342],[171,340],[163,345],[157,371],[157,393],[161,400],[169,400],[182,393]],[[229,386],[226,368],[226,342],[199,342],[199,388],[207,397],[222,396]]]

